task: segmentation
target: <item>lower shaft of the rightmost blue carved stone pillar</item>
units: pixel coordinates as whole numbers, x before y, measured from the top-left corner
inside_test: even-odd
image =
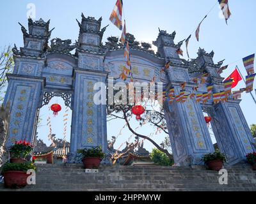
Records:
[[[229,99],[228,103],[219,103],[209,112],[218,147],[227,157],[229,165],[244,161],[246,154],[255,151],[255,141],[239,102]]]

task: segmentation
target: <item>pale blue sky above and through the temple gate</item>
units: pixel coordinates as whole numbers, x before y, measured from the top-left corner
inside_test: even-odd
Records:
[[[134,34],[136,40],[151,43],[156,40],[158,27],[166,30],[168,33],[176,31],[177,35],[175,42],[178,43],[189,34],[195,31],[198,23],[205,14],[211,10],[217,0],[123,0],[124,15],[127,23],[127,32]],[[1,1],[0,6],[0,47],[16,43],[17,47],[22,47],[22,33],[18,22],[25,27],[28,26],[26,19],[27,4],[34,3],[36,6],[36,19],[43,18],[45,21],[51,19],[50,28],[56,27],[52,31],[51,38],[71,39],[74,43],[78,38],[79,27],[76,18],[81,20],[81,12],[85,16],[99,18],[102,16],[102,26],[109,24],[108,29],[104,34],[102,42],[106,41],[108,36],[120,36],[121,32],[109,22],[109,15],[113,10],[116,0],[98,0],[98,1],[60,1],[60,0],[44,0],[44,1]],[[243,66],[242,58],[256,52],[256,1],[229,1],[230,11],[232,16],[228,20],[228,25],[225,24],[218,4],[209,13],[207,19],[203,22],[200,29],[200,41],[197,42],[195,34],[189,41],[189,55],[191,58],[197,56],[198,47],[204,48],[207,52],[214,50],[214,62],[225,59],[224,64],[230,64],[228,69],[222,74],[223,77],[228,77],[234,68],[239,66],[243,76],[246,71]],[[186,49],[182,47],[185,51]],[[185,53],[185,52],[184,52]],[[186,59],[186,55],[184,56]],[[243,88],[244,82],[237,85],[237,89]],[[255,96],[255,92],[253,92]],[[53,101],[52,101],[53,102]],[[244,112],[248,124],[256,123],[255,119],[255,103],[253,103],[250,94],[243,94],[241,108]],[[48,107],[47,107],[48,108]],[[45,129],[45,120],[48,116],[47,108],[42,110],[43,127],[40,130],[40,137],[45,138],[47,131]],[[60,115],[63,113],[60,113]],[[58,124],[62,120],[56,117],[52,119],[52,126]],[[71,115],[71,114],[70,114]],[[123,122],[118,122],[118,128],[108,126],[108,136],[117,135],[123,126]],[[136,128],[136,122],[133,122]],[[59,138],[62,138],[62,129],[53,129]],[[143,128],[140,130],[145,135],[150,134],[150,130]],[[68,134],[67,134],[68,135]],[[118,140],[118,144],[124,142],[125,138],[129,137],[129,131],[123,131],[122,139]],[[69,136],[69,135],[68,135]],[[164,135],[156,136],[156,140],[161,142]],[[46,142],[46,141],[45,141]],[[150,149],[152,145],[145,143]]]

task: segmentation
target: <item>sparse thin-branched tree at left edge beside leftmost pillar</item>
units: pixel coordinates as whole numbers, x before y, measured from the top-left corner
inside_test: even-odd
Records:
[[[0,48],[0,101],[3,102],[6,87],[8,85],[6,73],[12,73],[14,66],[12,47]]]

